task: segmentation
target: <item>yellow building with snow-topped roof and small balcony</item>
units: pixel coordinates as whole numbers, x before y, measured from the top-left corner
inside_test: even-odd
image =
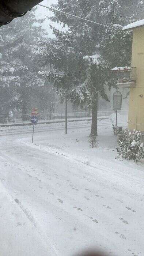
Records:
[[[130,89],[128,128],[141,130],[144,141],[144,19],[122,30],[133,30],[132,64],[125,68],[117,87]]]

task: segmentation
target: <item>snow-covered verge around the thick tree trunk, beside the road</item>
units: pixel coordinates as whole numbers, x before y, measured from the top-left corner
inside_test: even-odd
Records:
[[[37,135],[34,139],[34,144],[31,144],[31,138],[26,137],[18,140],[27,144],[29,147],[37,148],[41,151],[52,153],[55,155],[64,155],[70,160],[79,161],[90,166],[107,166],[109,168],[113,167],[114,170],[120,171],[120,173],[125,170],[130,176],[137,177],[137,170],[139,174],[144,170],[144,160],[139,163],[134,163],[133,161],[123,161],[115,159],[117,156],[116,148],[117,137],[113,135],[112,125],[110,120],[99,120],[98,121],[98,137],[97,137],[97,147],[91,148],[88,138],[90,134],[91,121],[83,121],[83,126],[79,127],[79,123],[75,122],[69,124],[68,134],[65,135],[64,132],[48,132],[46,138],[44,139],[41,135]],[[58,125],[58,124],[57,124]],[[64,124],[61,124],[62,126]],[[58,127],[61,127],[59,124]],[[73,125],[73,126],[72,126]],[[87,125],[87,127],[85,127]],[[123,125],[126,128],[127,123],[119,121],[118,125]],[[54,128],[54,124],[50,127]],[[45,125],[46,128],[46,125]],[[105,157],[103,157],[105,156]]]

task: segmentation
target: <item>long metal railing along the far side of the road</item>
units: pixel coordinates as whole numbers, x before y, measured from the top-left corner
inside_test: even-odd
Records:
[[[114,110],[110,111],[98,111],[98,117],[110,116],[112,113],[115,113]],[[128,111],[120,110],[118,113],[127,114]],[[68,118],[84,118],[91,117],[92,112],[68,112]],[[45,120],[57,120],[64,119],[65,113],[42,113],[37,115],[39,121]],[[31,114],[13,114],[13,115],[0,115],[0,124],[6,123],[24,123],[29,122]]]

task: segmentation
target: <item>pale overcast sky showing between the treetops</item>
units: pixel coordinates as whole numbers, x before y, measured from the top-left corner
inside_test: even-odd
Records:
[[[46,5],[48,7],[50,7],[51,4],[56,4],[57,0],[44,0],[42,1],[40,4]],[[52,15],[52,12],[49,11],[47,8],[41,7],[39,5],[37,5],[37,11],[36,11],[36,17],[37,18],[45,18],[46,15]],[[62,29],[62,26],[60,26],[60,24],[57,23],[52,23],[50,20],[46,19],[43,22],[42,27],[44,29],[46,29],[46,31],[49,33],[49,37],[54,37],[52,34],[52,30],[49,28],[49,25],[54,25],[54,27],[58,28],[58,29]]]

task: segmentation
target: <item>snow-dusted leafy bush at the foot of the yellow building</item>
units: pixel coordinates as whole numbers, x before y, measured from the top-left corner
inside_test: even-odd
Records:
[[[135,162],[144,158],[140,131],[133,130],[133,139],[132,132],[125,131],[118,143],[120,145],[120,147],[117,147],[118,158],[121,156],[127,160],[133,159]]]

